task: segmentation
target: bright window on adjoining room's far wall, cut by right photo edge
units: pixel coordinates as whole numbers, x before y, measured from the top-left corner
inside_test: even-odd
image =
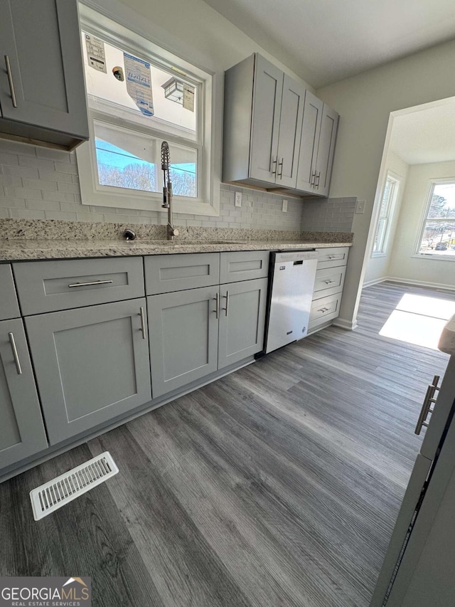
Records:
[[[417,255],[455,259],[455,178],[430,182]]]

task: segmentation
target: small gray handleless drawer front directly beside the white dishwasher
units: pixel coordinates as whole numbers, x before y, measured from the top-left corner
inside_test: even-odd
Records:
[[[269,274],[268,250],[240,250],[221,253],[220,284],[266,278]]]

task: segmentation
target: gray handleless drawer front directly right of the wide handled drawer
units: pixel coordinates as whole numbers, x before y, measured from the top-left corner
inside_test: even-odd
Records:
[[[220,282],[220,253],[150,255],[145,258],[147,295],[212,287]]]

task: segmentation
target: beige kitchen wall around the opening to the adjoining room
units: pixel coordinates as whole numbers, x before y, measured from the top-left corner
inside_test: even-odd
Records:
[[[340,113],[331,196],[357,196],[341,319],[355,319],[373,202],[390,112],[455,95],[455,41],[346,78],[316,94]]]

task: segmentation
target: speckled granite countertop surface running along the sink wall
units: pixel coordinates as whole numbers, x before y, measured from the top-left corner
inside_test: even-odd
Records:
[[[352,246],[352,242],[288,241],[68,241],[14,238],[0,240],[0,262],[33,259],[74,259],[87,257],[122,257],[124,255],[166,255],[169,253],[209,253],[235,250],[286,250]]]

